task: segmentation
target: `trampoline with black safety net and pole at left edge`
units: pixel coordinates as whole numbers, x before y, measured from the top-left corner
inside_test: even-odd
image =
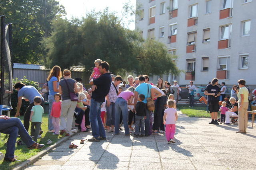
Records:
[[[12,105],[10,102],[11,95],[5,93],[5,90],[13,92],[12,88],[12,23],[5,23],[5,16],[0,16],[1,19],[1,88],[0,88],[0,115],[2,111],[7,111],[10,116]]]

